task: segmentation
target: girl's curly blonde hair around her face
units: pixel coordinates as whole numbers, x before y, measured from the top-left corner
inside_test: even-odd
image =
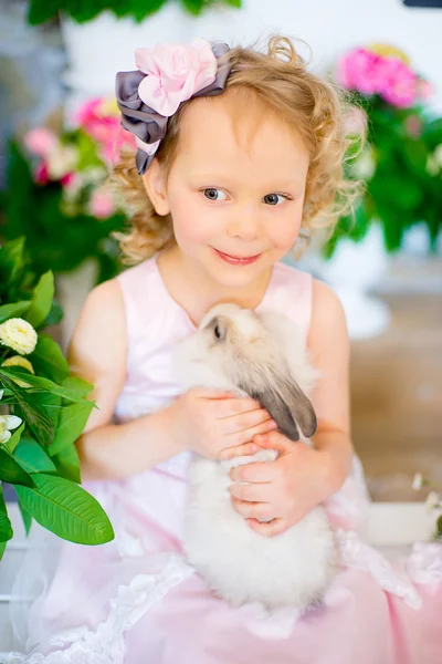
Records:
[[[359,152],[364,144],[362,129],[348,136],[346,120],[355,113],[348,92],[308,71],[304,59],[285,37],[271,38],[266,53],[254,48],[235,48],[222,60],[231,65],[225,92],[254,94],[297,132],[309,152],[299,235],[308,241],[319,228],[332,231],[339,217],[350,211],[361,189],[359,181],[345,175],[349,147],[357,143],[356,152]],[[169,118],[167,134],[156,153],[166,176],[178,151],[180,121],[191,103],[189,100],[181,104]],[[173,242],[171,216],[157,215],[137,173],[133,152],[119,155],[110,181],[130,214],[128,231],[116,234],[124,262],[137,263]]]

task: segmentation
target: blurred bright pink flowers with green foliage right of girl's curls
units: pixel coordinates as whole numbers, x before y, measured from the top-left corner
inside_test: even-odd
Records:
[[[420,222],[434,249],[441,230],[442,118],[431,117],[427,107],[430,84],[404,53],[379,44],[345,54],[336,77],[360,110],[349,134],[361,124],[368,132],[346,165],[349,178],[364,180],[364,194],[354,214],[339,220],[326,253],[343,237],[362,239],[373,220],[381,224],[387,251],[398,250],[404,231]]]

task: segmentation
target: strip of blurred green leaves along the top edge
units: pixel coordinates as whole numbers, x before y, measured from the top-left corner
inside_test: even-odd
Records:
[[[85,23],[97,17],[102,11],[109,10],[117,18],[133,17],[140,22],[156,13],[169,0],[31,0],[28,20],[36,25],[52,19],[59,11],[67,13],[74,21]],[[181,4],[191,14],[200,14],[207,7],[229,4],[240,8],[241,0],[181,0]]]

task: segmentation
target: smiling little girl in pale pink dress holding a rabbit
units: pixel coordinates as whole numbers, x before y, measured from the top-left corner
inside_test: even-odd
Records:
[[[343,310],[325,284],[280,262],[350,198],[341,94],[283,38],[266,54],[161,44],[137,50],[136,65],[117,75],[117,101],[138,152],[116,175],[133,210],[122,247],[137,264],[92,291],[70,349],[98,405],[78,440],[83,479],[116,537],[62,544],[29,618],[34,658],[22,661],[440,663],[440,547],[415,547],[399,570],[358,538],[368,501],[350,443]],[[172,350],[220,301],[301,328],[322,375],[313,449],[291,444],[252,398],[179,394]],[[302,616],[229,606],[182,553],[191,454],[227,459],[259,447],[277,460],[231,473],[248,526],[277,537],[325,502],[336,529],[341,572],[324,605]]]

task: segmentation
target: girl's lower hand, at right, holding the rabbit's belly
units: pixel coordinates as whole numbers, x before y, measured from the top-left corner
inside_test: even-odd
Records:
[[[280,456],[274,461],[232,468],[233,506],[256,532],[280,535],[334,492],[330,458],[328,453],[293,443],[276,430],[255,436],[254,442],[276,449]]]

